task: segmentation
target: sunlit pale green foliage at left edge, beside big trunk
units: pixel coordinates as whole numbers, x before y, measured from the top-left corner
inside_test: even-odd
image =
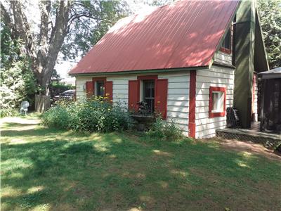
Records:
[[[34,74],[30,60],[25,53],[21,53],[21,48],[22,42],[11,39],[9,30],[1,25],[0,106],[6,115],[13,114],[11,109],[18,108],[21,101],[26,100],[30,104],[34,101]]]

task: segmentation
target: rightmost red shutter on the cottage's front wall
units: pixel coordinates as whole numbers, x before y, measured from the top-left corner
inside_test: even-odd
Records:
[[[157,79],[155,111],[162,114],[163,120],[166,120],[168,97],[168,79]]]

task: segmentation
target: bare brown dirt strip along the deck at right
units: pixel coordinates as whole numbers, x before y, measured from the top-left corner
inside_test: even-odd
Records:
[[[232,151],[233,150],[240,151],[240,152],[244,151],[256,155],[263,155],[271,160],[279,160],[281,162],[281,153],[265,148],[260,143],[253,143],[250,141],[237,141],[233,139],[219,139],[219,138],[216,138],[215,141],[218,141],[220,146],[222,146],[223,148],[230,149]]]

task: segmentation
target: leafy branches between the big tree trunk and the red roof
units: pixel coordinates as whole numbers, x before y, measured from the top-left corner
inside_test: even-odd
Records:
[[[61,52],[64,58],[84,56],[129,8],[125,1],[77,1],[71,8],[70,30]]]

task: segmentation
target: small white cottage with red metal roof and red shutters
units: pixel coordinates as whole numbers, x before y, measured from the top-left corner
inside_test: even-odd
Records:
[[[256,119],[264,70],[254,1],[182,0],[119,20],[69,74],[77,98],[107,95],[129,109],[145,101],[188,136],[209,138],[229,106],[243,127]]]

